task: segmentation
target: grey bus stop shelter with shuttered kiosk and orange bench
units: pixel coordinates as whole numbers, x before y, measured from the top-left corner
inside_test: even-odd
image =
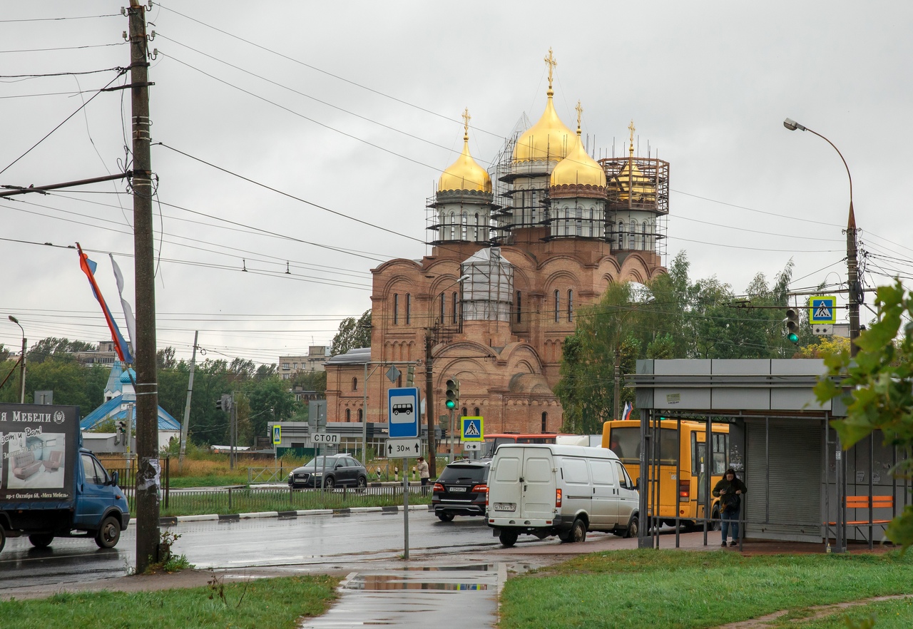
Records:
[[[721,422],[729,425],[727,465],[748,487],[742,539],[831,543],[835,552],[848,541],[872,548],[884,539],[887,521],[910,498],[908,480],[889,473],[902,453],[880,433],[842,449],[830,422],[845,416],[845,406],[820,404],[813,393],[825,372],[816,359],[637,361],[626,385],[640,412],[640,513],[656,513],[659,485],[677,477],[659,474],[657,420],[704,422],[706,435]],[[703,477],[710,513],[712,487]],[[658,546],[659,522],[643,519],[639,546]],[[712,520],[703,521],[707,530]]]

